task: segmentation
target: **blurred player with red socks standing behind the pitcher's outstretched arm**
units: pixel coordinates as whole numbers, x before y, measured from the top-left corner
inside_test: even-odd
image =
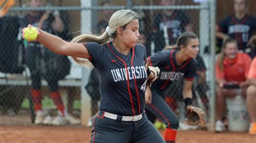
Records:
[[[42,0],[31,0],[30,6],[39,7],[42,6]],[[48,31],[55,35],[60,35],[64,32],[64,24],[60,18],[58,11],[29,11],[24,18],[21,19],[21,26],[26,27],[28,24],[32,24],[35,27],[42,28],[45,31]],[[24,41],[26,42],[26,41]],[[58,55],[52,53],[47,48],[43,47],[42,44],[38,42],[29,42],[25,44],[28,47],[25,51],[25,61],[28,65],[32,89],[31,95],[33,98],[33,104],[35,105],[36,119],[35,124],[49,124],[49,125],[65,125],[70,124],[79,124],[79,120],[68,115],[64,108],[62,98],[60,97],[58,89],[58,80],[60,80],[59,73],[56,73],[57,65],[63,63],[57,63],[54,66],[54,61],[64,61],[64,59],[56,59]],[[68,59],[66,59],[68,60]],[[69,62],[69,61],[67,61]],[[64,63],[67,65],[68,63]],[[43,67],[43,68],[42,68]],[[65,69],[63,69],[65,70]],[[69,71],[68,71],[69,73]],[[42,76],[48,82],[50,96],[52,97],[53,102],[55,103],[58,109],[58,116],[52,118],[50,115],[46,116],[42,110],[42,91],[41,91],[41,78]]]

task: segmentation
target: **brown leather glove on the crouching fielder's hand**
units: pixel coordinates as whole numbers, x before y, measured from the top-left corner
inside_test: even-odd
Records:
[[[186,111],[187,118],[184,123],[187,125],[199,125],[201,129],[205,130],[204,111],[192,105],[188,105]]]

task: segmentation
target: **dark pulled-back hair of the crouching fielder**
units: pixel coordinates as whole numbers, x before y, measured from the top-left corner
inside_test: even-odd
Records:
[[[190,43],[191,39],[198,39],[197,34],[193,32],[184,32],[180,34],[176,45],[166,46],[164,49],[180,49],[181,45],[186,47]]]

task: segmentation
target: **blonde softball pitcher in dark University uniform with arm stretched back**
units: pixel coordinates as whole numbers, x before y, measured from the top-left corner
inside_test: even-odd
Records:
[[[98,69],[101,100],[92,119],[91,142],[165,142],[144,113],[147,78],[156,80],[157,71],[146,65],[138,29],[137,13],[119,10],[99,37],[79,35],[66,42],[38,30],[37,40],[51,51]]]

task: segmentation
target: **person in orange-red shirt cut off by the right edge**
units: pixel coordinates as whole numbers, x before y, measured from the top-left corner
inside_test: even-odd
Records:
[[[254,57],[252,61],[248,78],[245,82],[241,83],[241,87],[248,87],[246,94],[246,104],[249,116],[251,118],[249,134],[256,135],[256,57]]]

